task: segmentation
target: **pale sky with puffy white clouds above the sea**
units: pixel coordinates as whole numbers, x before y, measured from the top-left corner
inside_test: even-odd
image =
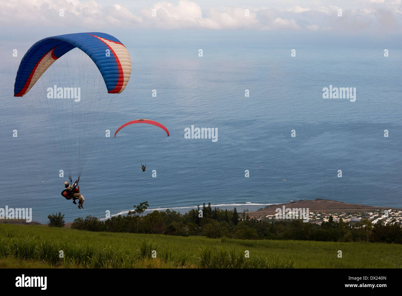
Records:
[[[12,29],[27,28],[255,30],[347,35],[369,32],[381,37],[400,34],[402,7],[400,0],[1,1],[2,38],[12,39]]]

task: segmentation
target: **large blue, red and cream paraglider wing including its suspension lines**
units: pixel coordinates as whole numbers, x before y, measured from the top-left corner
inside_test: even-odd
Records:
[[[121,93],[130,74],[127,49],[106,33],[47,37],[33,44],[23,56],[14,82],[14,97],[22,97],[44,129],[52,133],[70,181],[73,173],[79,179],[84,170],[94,147],[96,125],[105,118],[114,97],[109,94]]]

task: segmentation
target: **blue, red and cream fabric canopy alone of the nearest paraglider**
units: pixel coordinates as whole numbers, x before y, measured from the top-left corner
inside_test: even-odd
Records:
[[[125,46],[115,37],[100,33],[75,33],[39,40],[25,53],[14,84],[14,97],[22,97],[39,77],[68,51],[84,51],[96,64],[108,93],[121,93],[131,74],[131,60]]]

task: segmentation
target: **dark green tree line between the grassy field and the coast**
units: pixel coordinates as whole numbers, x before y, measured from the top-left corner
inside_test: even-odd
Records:
[[[275,239],[275,240],[316,240],[352,242],[365,241],[376,243],[402,244],[402,228],[400,224],[384,224],[378,222],[372,225],[368,219],[352,226],[343,222],[334,222],[330,216],[328,222],[305,223],[302,219],[296,220],[254,220],[245,212],[211,208],[205,203],[200,211],[190,210],[188,213],[166,210],[155,210],[143,215],[148,203],[134,206],[126,216],[114,216],[100,221],[94,216],[77,218],[71,228],[89,231],[131,232],[146,234],[165,234],[178,236],[201,235],[208,238],[238,239]],[[50,216],[50,215],[49,215]]]

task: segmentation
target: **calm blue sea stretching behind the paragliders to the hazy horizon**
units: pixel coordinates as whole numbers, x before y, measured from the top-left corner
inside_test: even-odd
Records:
[[[142,201],[180,212],[204,202],[242,211],[316,198],[402,208],[401,49],[388,48],[385,58],[386,44],[298,39],[289,45],[280,38],[273,43],[264,32],[112,34],[129,49],[132,72],[95,128],[79,184],[83,210],[60,195],[66,178],[58,177],[51,134],[13,97],[23,54],[48,35],[21,36],[0,47],[0,207],[32,208],[33,220],[42,223],[57,212],[66,222],[104,218],[107,210],[125,213]],[[330,84],[356,87],[356,101],[323,99],[322,88]],[[145,173],[136,154],[140,138],[123,130],[118,139],[105,138],[106,129],[113,134],[139,118],[170,131],[168,138],[151,136]],[[191,125],[216,127],[218,141],[185,139]]]

